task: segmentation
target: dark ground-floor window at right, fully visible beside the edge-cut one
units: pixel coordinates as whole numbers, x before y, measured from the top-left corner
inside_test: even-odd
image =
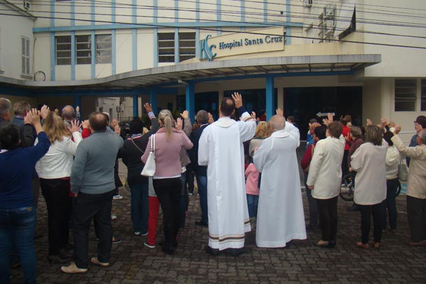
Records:
[[[417,80],[395,80],[395,112],[416,110]]]

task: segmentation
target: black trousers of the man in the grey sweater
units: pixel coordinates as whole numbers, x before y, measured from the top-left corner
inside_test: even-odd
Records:
[[[111,207],[114,190],[108,193],[78,193],[73,208],[74,217],[74,262],[79,268],[87,268],[89,263],[89,228],[94,218],[98,242],[98,260],[110,262],[111,255]]]

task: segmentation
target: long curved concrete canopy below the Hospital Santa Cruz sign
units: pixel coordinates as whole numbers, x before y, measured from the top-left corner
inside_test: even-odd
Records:
[[[15,87],[31,90],[54,89],[135,89],[161,87],[182,81],[209,80],[210,78],[244,75],[277,76],[284,73],[344,72],[361,70],[381,62],[380,54],[345,54],[297,57],[263,57],[180,63],[134,70],[108,77],[78,80],[36,82],[0,77],[0,87]],[[217,80],[217,79],[216,79]]]

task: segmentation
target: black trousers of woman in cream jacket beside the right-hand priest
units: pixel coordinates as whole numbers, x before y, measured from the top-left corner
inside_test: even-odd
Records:
[[[321,225],[321,240],[323,241],[336,241],[337,197],[316,200]]]

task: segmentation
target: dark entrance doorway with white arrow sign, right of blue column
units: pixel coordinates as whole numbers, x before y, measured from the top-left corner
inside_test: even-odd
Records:
[[[335,112],[335,120],[349,114],[353,125],[362,125],[362,87],[284,88],[284,115],[295,117],[301,140],[306,139],[309,119],[324,118],[316,117],[318,112]]]

